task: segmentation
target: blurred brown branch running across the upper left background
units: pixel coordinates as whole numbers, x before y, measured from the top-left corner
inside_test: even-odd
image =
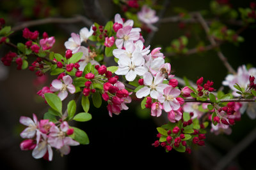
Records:
[[[28,22],[23,22],[22,24],[16,25],[12,28],[12,31],[19,31],[26,27],[32,27],[36,25],[44,25],[44,24],[73,24],[76,22],[83,22],[86,26],[90,27],[93,23],[88,18],[77,15],[73,18],[44,18],[40,20],[31,20]]]

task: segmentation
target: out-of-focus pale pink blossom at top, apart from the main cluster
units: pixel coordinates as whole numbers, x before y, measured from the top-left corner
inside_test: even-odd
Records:
[[[147,5],[142,6],[141,11],[138,12],[138,18],[145,24],[154,24],[159,20],[156,11],[148,8]]]

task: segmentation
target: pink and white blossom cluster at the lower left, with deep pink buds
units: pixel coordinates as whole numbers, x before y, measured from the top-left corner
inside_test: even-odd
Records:
[[[70,146],[79,145],[69,137],[74,129],[70,128],[67,122],[54,124],[47,119],[38,121],[33,114],[33,120],[29,117],[20,117],[20,124],[28,126],[20,133],[21,138],[25,138],[20,143],[20,149],[33,150],[32,156],[35,159],[44,157],[51,161],[52,147],[60,151],[61,155],[67,155],[70,153]]]

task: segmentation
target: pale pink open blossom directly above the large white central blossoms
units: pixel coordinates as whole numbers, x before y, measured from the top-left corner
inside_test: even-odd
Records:
[[[133,29],[131,26],[125,26],[122,29],[118,29],[116,32],[116,46],[117,48],[123,48],[123,45],[128,41],[138,41],[140,38],[140,29]]]

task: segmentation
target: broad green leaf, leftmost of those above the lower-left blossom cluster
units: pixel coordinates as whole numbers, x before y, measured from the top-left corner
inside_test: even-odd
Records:
[[[52,109],[58,111],[62,115],[62,102],[60,97],[52,93],[45,93],[44,97],[49,106],[51,106]]]

